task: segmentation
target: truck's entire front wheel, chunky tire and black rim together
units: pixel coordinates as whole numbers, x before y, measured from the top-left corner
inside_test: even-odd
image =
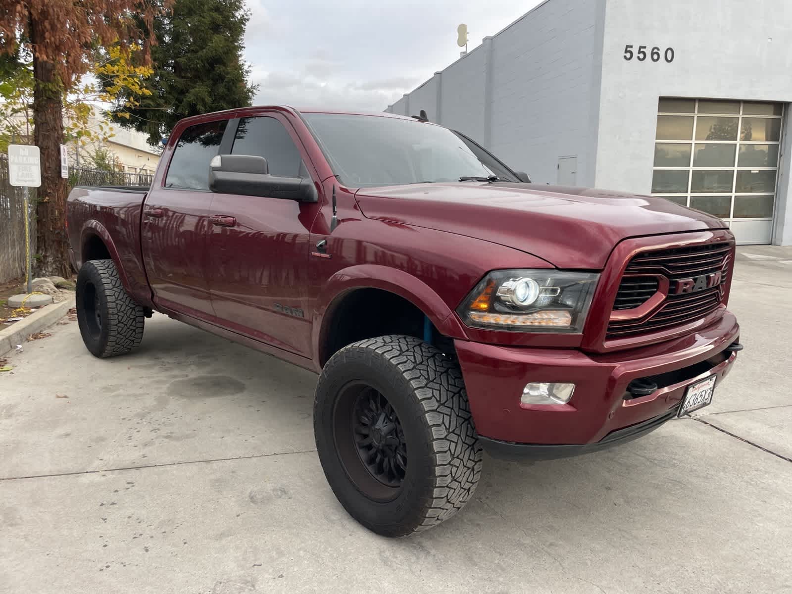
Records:
[[[482,470],[458,365],[413,337],[371,338],[335,353],[316,388],[314,433],[338,501],[384,536],[453,516]]]

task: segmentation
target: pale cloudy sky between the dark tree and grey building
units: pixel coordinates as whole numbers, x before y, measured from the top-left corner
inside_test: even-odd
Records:
[[[246,0],[245,56],[253,105],[381,112],[468,50],[539,4],[538,0]]]

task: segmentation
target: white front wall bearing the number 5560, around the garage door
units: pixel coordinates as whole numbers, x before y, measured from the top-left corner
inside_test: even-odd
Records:
[[[623,58],[633,44],[674,60]],[[596,185],[649,193],[659,97],[792,101],[790,0],[607,0]],[[774,242],[792,243],[790,119],[779,163]]]

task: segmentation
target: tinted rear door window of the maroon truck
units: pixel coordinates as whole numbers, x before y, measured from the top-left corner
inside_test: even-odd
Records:
[[[209,188],[209,162],[218,154],[227,120],[190,126],[181,133],[168,167],[166,188]]]

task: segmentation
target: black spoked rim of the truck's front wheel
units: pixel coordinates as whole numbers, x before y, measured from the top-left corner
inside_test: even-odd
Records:
[[[393,501],[407,475],[407,441],[386,396],[361,382],[341,389],[333,407],[333,438],[347,476],[372,501]]]

